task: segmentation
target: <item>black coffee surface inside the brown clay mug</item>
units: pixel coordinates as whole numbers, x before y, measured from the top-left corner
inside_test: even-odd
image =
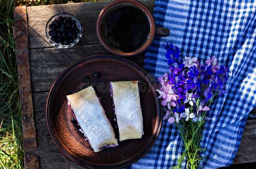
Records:
[[[110,46],[125,52],[134,51],[146,42],[149,20],[139,8],[119,7],[106,15],[101,33]]]

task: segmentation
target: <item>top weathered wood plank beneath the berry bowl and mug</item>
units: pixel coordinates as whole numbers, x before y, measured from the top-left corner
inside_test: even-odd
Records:
[[[141,2],[149,10],[153,11],[154,0],[141,0]],[[28,7],[29,48],[46,48],[52,46],[45,37],[44,29],[51,16],[60,12],[76,15],[81,21],[83,35],[78,45],[100,43],[96,33],[96,21],[100,11],[109,3],[110,1]]]

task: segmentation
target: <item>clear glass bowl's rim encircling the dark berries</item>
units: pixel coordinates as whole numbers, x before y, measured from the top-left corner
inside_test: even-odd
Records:
[[[74,40],[73,43],[70,43],[69,45],[63,45],[63,44],[60,44],[60,43],[56,43],[54,41],[51,40],[51,36],[49,35],[49,31],[50,31],[50,28],[49,28],[49,25],[51,23],[53,23],[53,21],[55,21],[58,17],[67,17],[67,18],[71,18],[72,20],[75,20],[75,23],[76,23],[76,26],[79,30],[79,33],[77,34],[77,38]],[[54,46],[56,46],[57,48],[70,48],[72,47],[73,45],[76,45],[76,43],[78,43],[78,41],[80,40],[81,36],[82,36],[82,32],[83,32],[83,28],[82,28],[82,25],[81,25],[81,22],[80,20],[78,20],[78,18],[76,18],[75,15],[72,15],[70,13],[57,13],[55,15],[53,15],[47,22],[46,26],[45,26],[45,35],[46,35],[46,38],[47,40]]]

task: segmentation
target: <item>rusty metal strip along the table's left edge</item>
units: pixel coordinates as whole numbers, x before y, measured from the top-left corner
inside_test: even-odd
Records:
[[[22,115],[24,166],[26,169],[36,169],[39,168],[39,161],[36,153],[36,130],[34,125],[31,96],[26,6],[14,8],[13,17],[16,19],[13,26],[13,36],[15,38],[17,49],[18,87]]]

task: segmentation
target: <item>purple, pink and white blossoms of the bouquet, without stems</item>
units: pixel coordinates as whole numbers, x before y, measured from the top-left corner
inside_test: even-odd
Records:
[[[229,69],[219,66],[215,56],[200,65],[195,57],[185,57],[183,61],[177,46],[170,44],[165,49],[169,74],[158,78],[161,85],[156,90],[166,111],[164,120],[171,124],[179,123],[181,118],[193,122],[207,120],[201,117],[201,112],[210,110],[205,105],[216,94],[226,93]]]

